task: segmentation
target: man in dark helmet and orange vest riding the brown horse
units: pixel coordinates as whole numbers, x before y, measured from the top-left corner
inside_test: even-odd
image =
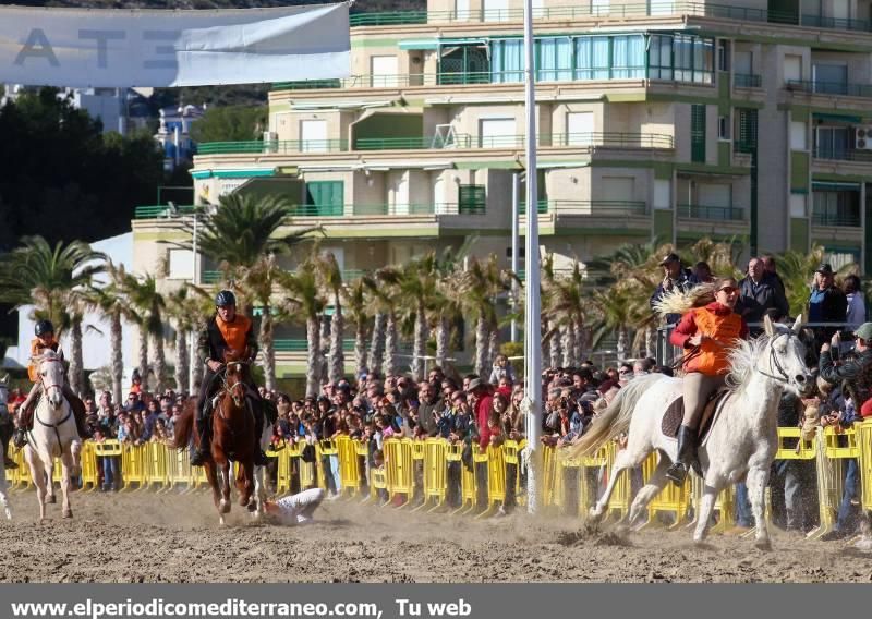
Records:
[[[252,321],[237,313],[237,298],[229,290],[222,290],[215,298],[215,316],[208,319],[197,340],[197,353],[206,364],[206,375],[199,386],[199,400],[197,400],[197,429],[199,432],[199,448],[194,452],[191,464],[202,466],[209,453],[211,441],[209,416],[211,415],[211,399],[218,390],[220,381],[215,379],[225,364],[227,352],[242,353],[243,360],[252,361],[257,354],[257,340],[254,338]],[[266,456],[261,450],[261,435],[264,430],[263,398],[257,392],[257,386],[247,373],[246,397],[253,403],[255,416],[255,448],[254,463],[263,466]]]

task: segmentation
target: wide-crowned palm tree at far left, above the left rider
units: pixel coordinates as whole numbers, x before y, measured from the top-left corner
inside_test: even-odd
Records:
[[[77,393],[85,388],[84,299],[94,276],[105,269],[105,254],[81,241],[58,242],[52,247],[41,236],[25,236],[22,246],[0,262],[0,300],[15,307],[35,304],[34,316],[51,320],[58,336],[70,329],[70,385]]]

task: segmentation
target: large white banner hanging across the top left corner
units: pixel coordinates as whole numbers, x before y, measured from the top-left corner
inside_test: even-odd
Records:
[[[125,87],[346,77],[347,3],[234,11],[0,8],[0,83]]]

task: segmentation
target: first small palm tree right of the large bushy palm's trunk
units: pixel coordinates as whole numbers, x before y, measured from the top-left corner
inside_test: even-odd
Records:
[[[279,287],[286,294],[282,306],[287,313],[302,316],[306,325],[308,359],[306,367],[306,397],[318,395],[320,380],[320,330],[319,318],[324,311],[324,300],[318,287],[318,274],[315,262],[310,257],[293,274],[281,274]]]

